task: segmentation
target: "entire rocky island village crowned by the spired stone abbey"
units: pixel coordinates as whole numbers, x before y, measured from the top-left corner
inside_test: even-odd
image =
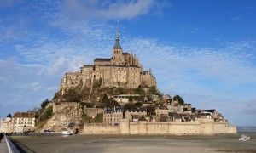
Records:
[[[159,78],[160,79],[160,78]],[[82,134],[236,133],[214,108],[196,109],[180,95],[162,95],[151,69],[123,52],[119,29],[112,57],[67,72],[54,98],[41,109],[16,112],[1,121],[1,132],[69,131]]]

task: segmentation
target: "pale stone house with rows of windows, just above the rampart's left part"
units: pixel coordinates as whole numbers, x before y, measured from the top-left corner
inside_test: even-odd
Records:
[[[107,108],[103,113],[103,123],[119,126],[120,119],[123,119],[123,108]]]

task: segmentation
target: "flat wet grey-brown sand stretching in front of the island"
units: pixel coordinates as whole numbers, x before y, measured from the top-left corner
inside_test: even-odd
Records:
[[[256,134],[243,142],[241,134],[215,136],[72,135],[12,136],[25,152],[256,152]]]

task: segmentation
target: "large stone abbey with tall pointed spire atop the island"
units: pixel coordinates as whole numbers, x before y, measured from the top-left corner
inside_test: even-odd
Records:
[[[124,53],[119,43],[119,29],[112,50],[111,59],[94,60],[93,65],[83,65],[79,72],[66,73],[61,80],[62,94],[65,89],[77,86],[91,87],[100,82],[101,87],[157,87],[151,69],[143,71],[143,65],[132,53]]]

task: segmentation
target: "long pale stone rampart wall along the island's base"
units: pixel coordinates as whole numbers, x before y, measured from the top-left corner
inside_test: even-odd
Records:
[[[170,134],[213,135],[237,133],[236,126],[228,122],[202,119],[200,122],[129,122],[122,119],[119,126],[108,124],[84,124],[83,134]]]

